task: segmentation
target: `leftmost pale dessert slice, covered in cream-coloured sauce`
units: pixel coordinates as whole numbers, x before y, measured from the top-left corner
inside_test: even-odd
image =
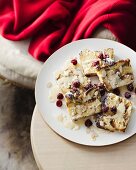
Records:
[[[79,63],[75,65],[70,61],[63,70],[56,73],[56,81],[62,92],[65,94],[73,86],[80,87],[87,83],[87,77],[83,74],[83,69]]]

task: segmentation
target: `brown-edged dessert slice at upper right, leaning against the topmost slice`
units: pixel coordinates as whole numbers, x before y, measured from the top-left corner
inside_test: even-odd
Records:
[[[97,67],[96,72],[100,82],[105,85],[108,91],[134,81],[129,59],[119,60],[111,66]]]

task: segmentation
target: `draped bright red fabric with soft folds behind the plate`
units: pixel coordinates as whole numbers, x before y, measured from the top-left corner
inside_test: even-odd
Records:
[[[135,0],[0,0],[0,33],[31,37],[29,52],[45,61],[59,47],[104,26],[136,50]]]

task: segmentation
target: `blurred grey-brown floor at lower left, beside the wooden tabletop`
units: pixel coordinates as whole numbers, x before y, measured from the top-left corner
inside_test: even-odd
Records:
[[[30,143],[34,92],[0,79],[0,170],[38,170]]]

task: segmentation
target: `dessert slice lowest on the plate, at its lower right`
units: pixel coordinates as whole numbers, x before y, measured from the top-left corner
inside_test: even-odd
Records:
[[[102,111],[96,120],[97,127],[111,132],[125,132],[132,111],[132,103],[129,100],[108,93]]]

